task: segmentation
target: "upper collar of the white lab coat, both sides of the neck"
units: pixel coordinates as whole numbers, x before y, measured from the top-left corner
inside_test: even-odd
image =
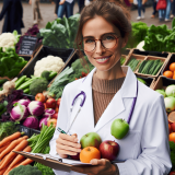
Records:
[[[121,97],[136,97],[137,94],[137,78],[132,70],[129,67],[121,67],[126,78],[120,88]],[[82,84],[80,85],[80,90],[88,92],[90,88],[92,88],[92,78],[96,68],[94,68],[86,78],[82,80]]]

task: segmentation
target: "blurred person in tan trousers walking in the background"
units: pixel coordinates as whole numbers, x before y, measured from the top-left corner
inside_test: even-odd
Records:
[[[40,10],[39,10],[39,0],[30,0],[30,4],[32,4],[32,11],[33,11],[33,20],[34,24],[37,24],[43,20]]]

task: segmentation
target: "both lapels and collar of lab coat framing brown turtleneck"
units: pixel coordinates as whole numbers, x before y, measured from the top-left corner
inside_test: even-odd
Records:
[[[93,113],[93,96],[92,96],[92,78],[96,70],[94,68],[86,78],[82,80],[80,90],[86,94],[86,100],[84,103],[83,116],[89,117],[90,126],[94,126],[94,113]],[[122,67],[126,73],[125,81],[120,90],[115,94],[112,102],[108,104],[107,108],[102,114],[95,127],[93,127],[94,132],[100,130],[108,121],[114,118],[119,117],[119,114],[125,112],[124,100],[125,97],[136,97],[137,92],[137,78],[129,67]],[[92,128],[91,128],[92,129]]]

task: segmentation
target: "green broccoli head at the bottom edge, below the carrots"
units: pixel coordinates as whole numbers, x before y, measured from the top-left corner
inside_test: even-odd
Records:
[[[10,171],[9,175],[42,175],[42,172],[36,166],[20,165]]]

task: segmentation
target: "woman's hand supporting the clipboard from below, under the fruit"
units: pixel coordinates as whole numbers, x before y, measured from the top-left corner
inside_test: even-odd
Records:
[[[108,160],[106,159],[101,159],[96,160],[93,159],[90,162],[92,165],[95,166],[74,166],[71,167],[71,171],[82,173],[82,174],[88,174],[88,175],[119,175],[119,171],[117,165],[112,164]]]

